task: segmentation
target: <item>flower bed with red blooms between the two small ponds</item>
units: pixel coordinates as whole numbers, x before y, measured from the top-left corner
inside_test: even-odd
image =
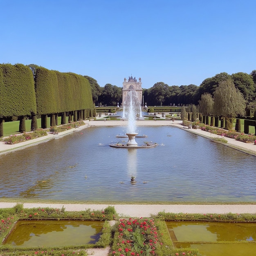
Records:
[[[166,232],[168,233],[166,225],[159,220],[120,219],[114,236],[112,255],[175,255],[173,244]]]

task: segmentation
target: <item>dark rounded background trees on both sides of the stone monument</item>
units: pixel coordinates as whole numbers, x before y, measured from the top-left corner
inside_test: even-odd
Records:
[[[122,101],[122,87],[107,83],[103,88],[97,80],[85,76],[92,87],[92,98],[96,106],[108,105],[117,106]],[[143,89],[144,102],[148,106],[183,106],[188,104],[198,105],[202,94],[213,92],[222,81],[230,80],[235,87],[243,94],[246,104],[255,101],[256,98],[256,70],[250,74],[238,72],[227,74],[222,72],[213,77],[204,79],[200,86],[197,85],[168,85],[164,82],[157,82],[149,89]]]

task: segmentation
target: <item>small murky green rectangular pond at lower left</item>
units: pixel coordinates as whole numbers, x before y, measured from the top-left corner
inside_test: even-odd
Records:
[[[4,244],[13,247],[68,246],[94,244],[104,221],[19,220]]]

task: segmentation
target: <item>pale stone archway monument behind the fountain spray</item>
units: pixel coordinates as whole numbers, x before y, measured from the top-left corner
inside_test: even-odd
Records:
[[[122,97],[122,103],[124,103],[125,98],[130,90],[135,90],[137,92],[137,97],[139,99],[140,104],[142,105],[142,88],[141,88],[141,78],[139,78],[139,82],[137,82],[137,79],[134,77],[129,76],[129,79],[127,80],[124,78],[123,82],[123,97]]]

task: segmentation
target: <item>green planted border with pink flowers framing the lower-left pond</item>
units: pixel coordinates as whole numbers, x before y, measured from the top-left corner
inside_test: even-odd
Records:
[[[0,209],[0,239],[1,241],[13,229],[18,220],[114,220],[115,209],[108,206],[104,210],[86,209],[85,211],[65,211],[65,208],[23,208],[23,204],[17,204],[13,208]],[[116,214],[116,213],[115,213]],[[65,246],[65,247],[10,247],[10,245],[0,244],[1,256],[88,256],[86,249],[101,248],[110,246],[111,227],[105,222],[102,234],[95,244]]]

